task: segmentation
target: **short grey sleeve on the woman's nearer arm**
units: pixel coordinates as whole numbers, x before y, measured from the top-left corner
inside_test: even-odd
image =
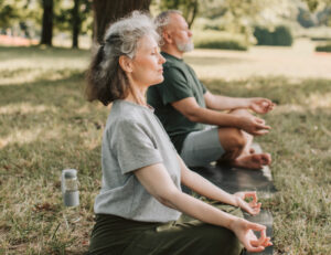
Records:
[[[121,173],[162,162],[161,155],[146,127],[131,120],[121,120],[113,129],[111,146]]]

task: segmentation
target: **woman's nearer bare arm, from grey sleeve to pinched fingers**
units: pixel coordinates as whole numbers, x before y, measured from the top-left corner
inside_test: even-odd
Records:
[[[166,206],[181,211],[194,219],[232,230],[249,252],[261,252],[271,245],[266,227],[233,216],[191,195],[181,192],[171,180],[162,163],[143,167],[135,171],[145,189]],[[261,232],[257,240],[253,231]]]

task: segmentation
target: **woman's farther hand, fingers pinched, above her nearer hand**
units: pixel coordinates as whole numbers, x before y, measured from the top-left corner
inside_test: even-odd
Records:
[[[261,203],[257,202],[257,195],[255,191],[252,192],[236,192],[233,194],[236,200],[236,205],[252,215],[257,215],[260,211]],[[252,201],[247,203],[245,199],[252,198]]]

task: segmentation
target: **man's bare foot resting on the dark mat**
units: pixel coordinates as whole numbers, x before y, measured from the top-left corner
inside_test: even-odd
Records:
[[[264,166],[271,163],[271,156],[269,153],[253,153],[239,156],[233,162],[233,167],[261,169]]]

